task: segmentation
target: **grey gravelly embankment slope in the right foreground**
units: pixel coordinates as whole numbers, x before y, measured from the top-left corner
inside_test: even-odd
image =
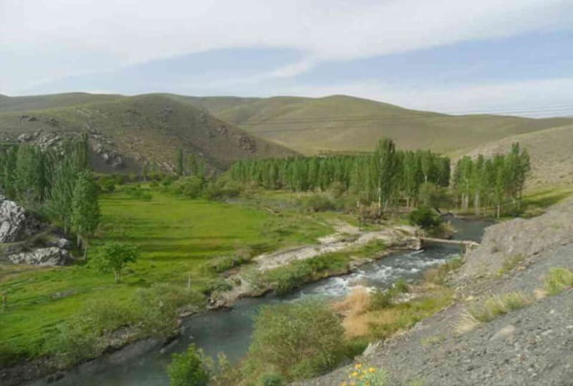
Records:
[[[518,257],[512,269],[504,262]],[[456,303],[409,332],[369,349],[357,361],[386,369],[391,385],[573,385],[573,290],[544,297],[552,267],[573,269],[573,200],[537,218],[489,227],[451,279]],[[467,328],[466,304],[521,292],[532,305]],[[298,385],[347,381],[340,368]]]

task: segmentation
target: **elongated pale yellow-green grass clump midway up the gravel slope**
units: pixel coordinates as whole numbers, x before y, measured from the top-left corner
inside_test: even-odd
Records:
[[[509,311],[524,308],[532,303],[532,298],[521,292],[493,295],[482,302],[474,302],[466,308],[469,314],[480,322],[489,322]]]

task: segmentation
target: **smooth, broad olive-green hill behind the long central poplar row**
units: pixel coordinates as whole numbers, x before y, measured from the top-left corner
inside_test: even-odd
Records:
[[[406,149],[452,152],[504,137],[573,123],[573,119],[451,116],[349,96],[222,100],[189,98],[222,120],[303,153],[370,151],[382,136]]]

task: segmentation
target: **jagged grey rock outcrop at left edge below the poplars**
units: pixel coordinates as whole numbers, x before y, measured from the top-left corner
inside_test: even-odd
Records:
[[[72,243],[14,201],[0,196],[0,261],[30,265],[65,265]]]

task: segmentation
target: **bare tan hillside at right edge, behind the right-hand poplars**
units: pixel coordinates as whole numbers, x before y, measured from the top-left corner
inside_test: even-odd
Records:
[[[460,151],[457,156],[468,154],[486,156],[505,153],[511,144],[519,142],[531,156],[531,179],[529,188],[546,185],[565,186],[573,184],[573,125],[549,128],[493,141],[478,147]]]

